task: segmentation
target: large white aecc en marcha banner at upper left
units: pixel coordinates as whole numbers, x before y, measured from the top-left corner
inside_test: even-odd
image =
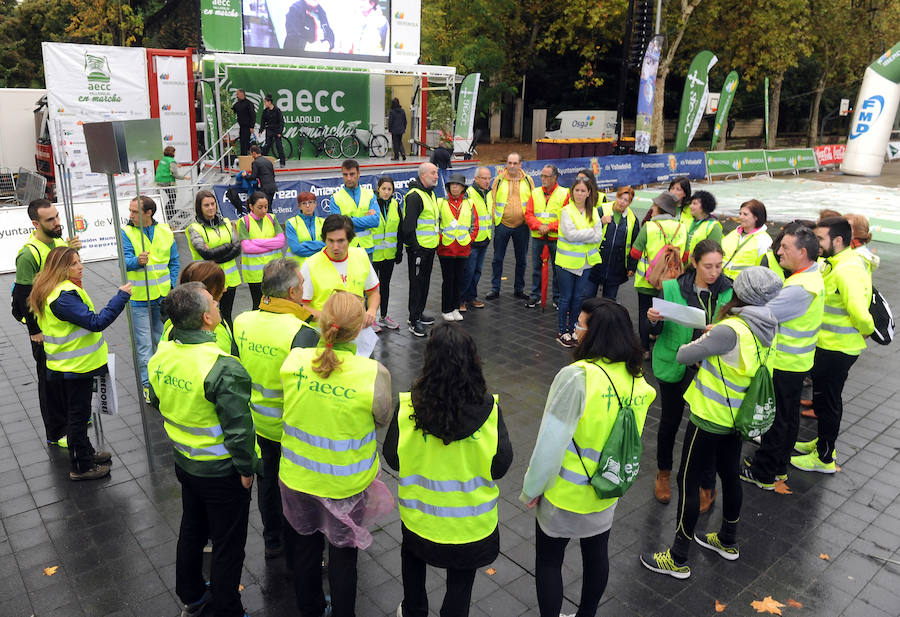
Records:
[[[50,42],[41,47],[51,138],[72,174],[72,197],[108,197],[106,175],[91,172],[82,124],[150,117],[146,51]],[[153,161],[139,162],[138,170],[142,186],[152,183]],[[116,185],[120,195],[134,192],[133,175],[117,175]]]

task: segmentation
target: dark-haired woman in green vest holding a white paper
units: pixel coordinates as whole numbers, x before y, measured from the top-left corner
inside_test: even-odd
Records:
[[[702,310],[706,324],[712,324],[719,310],[731,301],[731,279],[722,275],[722,247],[714,240],[701,240],[691,254],[691,267],[677,279],[663,282],[663,300]],[[678,348],[700,338],[705,330],[667,321],[659,310],[647,311],[650,333],[657,336],[653,346],[653,374],[659,381],[662,413],[656,433],[656,484],[653,495],[660,503],[672,498],[670,476],[675,435],[684,415],[684,393],[697,370],[675,361]],[[715,469],[700,480],[700,511],[706,512],[715,499]]]

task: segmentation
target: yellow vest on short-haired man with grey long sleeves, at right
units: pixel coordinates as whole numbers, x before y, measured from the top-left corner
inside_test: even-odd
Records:
[[[784,282],[785,287],[799,285],[813,295],[813,301],[799,317],[778,324],[775,335],[775,364],[779,371],[805,373],[813,365],[816,340],[825,311],[825,282],[819,265],[813,264],[803,272],[795,272]]]

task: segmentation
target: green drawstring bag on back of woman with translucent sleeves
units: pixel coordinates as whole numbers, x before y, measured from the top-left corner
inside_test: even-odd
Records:
[[[622,405],[622,399],[616,391],[616,386],[609,378],[609,373],[599,365],[595,365],[606,375],[619,401],[619,411],[616,414],[616,421],[612,430],[609,432],[609,438],[603,445],[600,460],[594,474],[588,473],[587,467],[584,465],[584,459],[581,458],[581,450],[575,439],[572,443],[575,445],[575,452],[578,454],[578,460],[584,468],[584,475],[590,478],[591,486],[599,499],[612,499],[621,497],[625,494],[631,485],[637,479],[638,471],[641,467],[641,434],[638,432],[637,420],[634,417],[634,410],[631,405]],[[629,401],[634,397],[634,378],[631,379],[631,396]]]

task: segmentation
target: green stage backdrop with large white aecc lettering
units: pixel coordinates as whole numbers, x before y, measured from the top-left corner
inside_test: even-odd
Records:
[[[225,90],[230,99],[237,100],[237,89],[243,88],[256,107],[257,119],[262,111],[263,98],[272,94],[273,102],[284,114],[284,137],[294,144],[299,137],[319,139],[328,135],[344,137],[357,129],[369,129],[368,73],[303,71],[276,66],[225,67]],[[359,156],[368,155],[365,148]],[[303,139],[303,152],[296,158],[315,158],[310,139]],[[324,152],[319,158],[326,158]]]

